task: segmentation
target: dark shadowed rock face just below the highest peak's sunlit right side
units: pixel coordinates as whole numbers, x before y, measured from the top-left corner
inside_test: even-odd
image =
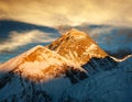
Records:
[[[105,58],[91,58],[87,64],[81,67],[88,71],[88,75],[96,73],[98,71],[111,70],[117,68],[118,63],[109,56]]]

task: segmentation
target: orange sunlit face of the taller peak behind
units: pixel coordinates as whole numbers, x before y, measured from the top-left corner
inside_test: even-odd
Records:
[[[88,34],[75,29],[66,32],[48,45],[48,48],[79,65],[86,64],[92,57],[105,58],[108,56]]]

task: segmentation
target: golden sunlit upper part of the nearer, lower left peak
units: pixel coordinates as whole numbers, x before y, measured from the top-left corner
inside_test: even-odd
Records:
[[[64,76],[72,68],[84,71],[57,53],[38,45],[1,65],[0,71],[13,71],[32,81],[44,81]]]

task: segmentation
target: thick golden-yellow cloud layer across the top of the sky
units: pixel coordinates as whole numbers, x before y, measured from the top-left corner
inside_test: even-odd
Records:
[[[132,0],[0,0],[0,20],[58,26],[132,26]]]

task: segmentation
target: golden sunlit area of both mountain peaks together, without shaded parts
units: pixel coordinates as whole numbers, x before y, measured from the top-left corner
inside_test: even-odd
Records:
[[[47,47],[37,45],[0,66],[31,80],[50,80],[67,70],[81,68],[92,57],[108,56],[88,34],[72,29]]]

